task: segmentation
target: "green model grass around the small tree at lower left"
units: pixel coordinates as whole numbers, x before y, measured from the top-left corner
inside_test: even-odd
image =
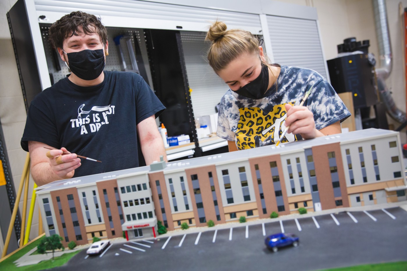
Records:
[[[18,260],[20,257],[24,256],[26,253],[28,253],[28,251],[30,251],[31,249],[37,247],[39,242],[41,242],[42,238],[44,238],[44,236],[39,238],[38,240],[35,240],[35,242],[31,243],[30,245],[20,249],[20,251],[11,255],[6,260],[3,260],[2,262],[0,262],[0,270],[37,271],[37,270],[44,270],[44,269],[49,269],[49,268],[53,268],[53,267],[58,267],[58,266],[65,264],[66,262],[68,262],[70,260],[70,258],[72,258],[73,256],[75,256],[77,253],[79,253],[81,251],[81,249],[79,249],[77,251],[65,253],[59,257],[55,257],[54,260],[46,260],[46,261],[39,262],[38,264],[16,267],[14,262],[16,260]],[[37,253],[35,253],[35,252],[36,251],[34,251],[33,254],[38,254],[38,252]],[[33,255],[33,254],[31,254],[31,255]]]

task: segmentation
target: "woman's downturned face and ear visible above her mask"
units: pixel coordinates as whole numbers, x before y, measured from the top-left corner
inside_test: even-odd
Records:
[[[256,79],[261,72],[261,61],[265,62],[263,48],[259,46],[260,58],[258,53],[243,53],[233,61],[231,61],[226,68],[218,72],[218,75],[231,90],[239,90],[244,85]]]

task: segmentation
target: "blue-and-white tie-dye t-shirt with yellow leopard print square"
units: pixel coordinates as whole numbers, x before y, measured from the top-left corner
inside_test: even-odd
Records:
[[[342,122],[350,116],[333,87],[319,73],[305,68],[281,66],[277,87],[274,84],[264,98],[251,99],[232,90],[223,95],[219,106],[217,135],[235,141],[239,150],[275,144],[285,129],[287,112],[284,105],[294,105],[297,100],[302,100],[311,86],[313,90],[304,106],[313,112],[317,130]],[[282,142],[300,139],[299,134],[287,133]]]

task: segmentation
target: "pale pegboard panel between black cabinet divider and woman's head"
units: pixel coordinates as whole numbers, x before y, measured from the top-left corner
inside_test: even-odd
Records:
[[[188,75],[195,118],[215,113],[228,85],[209,66],[206,59],[209,43],[206,32],[181,31],[182,49]]]

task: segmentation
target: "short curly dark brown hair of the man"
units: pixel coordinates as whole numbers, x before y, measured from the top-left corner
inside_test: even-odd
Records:
[[[83,31],[79,31],[79,26],[82,27]],[[48,36],[54,48],[62,48],[64,39],[73,35],[79,36],[83,33],[86,35],[98,33],[103,44],[107,43],[107,31],[101,19],[82,11],[74,11],[61,17],[61,19],[52,24],[48,31]]]

